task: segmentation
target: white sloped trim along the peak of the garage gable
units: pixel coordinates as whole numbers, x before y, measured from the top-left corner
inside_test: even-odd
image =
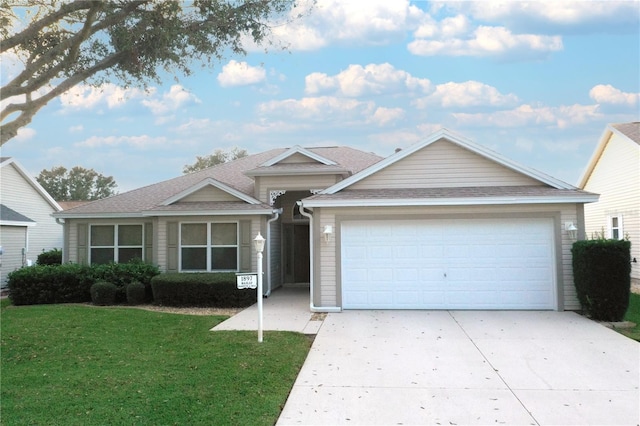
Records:
[[[539,182],[545,183],[556,189],[575,189],[573,185],[565,183],[561,180],[555,179],[545,173],[539,172],[537,170],[531,169],[529,167],[525,167],[521,164],[516,163],[515,161],[509,160],[506,157],[498,154],[495,151],[492,151],[482,145],[478,145],[471,140],[464,138],[462,136],[456,135],[447,129],[441,129],[436,133],[430,135],[427,139],[422,142],[418,142],[406,149],[396,152],[395,154],[390,155],[389,157],[381,160],[374,165],[356,173],[353,176],[348,177],[347,179],[340,181],[339,183],[325,189],[322,194],[335,194],[336,192],[361,181],[362,179],[373,175],[376,172],[394,164],[405,157],[417,152],[434,142],[439,141],[440,139],[446,139],[447,141],[454,143],[462,148],[465,148],[471,152],[474,152],[482,157],[485,157],[488,160],[494,161],[502,166],[505,166],[513,171],[521,173],[525,176],[528,176],[532,179],[535,179]]]

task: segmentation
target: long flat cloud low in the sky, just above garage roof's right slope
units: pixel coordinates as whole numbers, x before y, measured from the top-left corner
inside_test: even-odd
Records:
[[[492,113],[454,113],[460,125],[479,127],[526,127],[543,126],[564,129],[599,119],[597,105],[569,105],[559,107],[533,107],[520,105],[511,110]]]

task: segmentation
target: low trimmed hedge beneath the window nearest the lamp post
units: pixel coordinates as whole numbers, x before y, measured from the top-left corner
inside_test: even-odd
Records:
[[[244,308],[257,301],[256,290],[238,290],[235,273],[161,274],[151,279],[153,300],[164,306]]]

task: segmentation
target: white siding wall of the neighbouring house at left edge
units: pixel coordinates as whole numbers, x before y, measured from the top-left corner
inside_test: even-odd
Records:
[[[26,259],[35,263],[43,251],[62,249],[62,225],[51,217],[57,210],[25,180],[13,163],[1,169],[0,194],[2,204],[36,222],[36,226],[29,229]]]

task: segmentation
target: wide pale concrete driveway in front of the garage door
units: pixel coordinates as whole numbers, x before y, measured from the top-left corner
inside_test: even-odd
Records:
[[[329,314],[279,425],[633,424],[640,344],[572,312]]]

